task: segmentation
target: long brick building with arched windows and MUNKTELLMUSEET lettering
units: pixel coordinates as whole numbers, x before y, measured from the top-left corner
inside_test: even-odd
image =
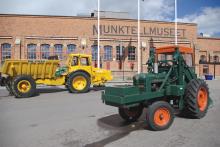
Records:
[[[137,20],[102,18],[100,21],[101,67],[112,70],[117,77],[137,72]],[[141,63],[146,71],[149,40],[154,46],[174,44],[174,23],[141,21]],[[219,62],[220,38],[197,36],[197,24],[178,23],[178,44],[195,49],[197,73],[213,73],[213,65]],[[77,16],[0,15],[0,62],[12,59],[47,59],[58,55],[65,61],[69,53],[92,54],[97,65],[97,18]],[[125,59],[119,61],[120,47]],[[220,66],[216,66],[220,76]]]

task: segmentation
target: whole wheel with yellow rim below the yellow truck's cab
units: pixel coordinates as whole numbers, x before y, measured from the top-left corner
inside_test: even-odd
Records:
[[[85,93],[90,88],[90,78],[84,72],[76,72],[69,76],[67,87],[71,93]]]

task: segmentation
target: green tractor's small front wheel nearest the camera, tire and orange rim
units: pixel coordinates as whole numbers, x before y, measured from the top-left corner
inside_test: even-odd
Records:
[[[146,120],[151,130],[161,131],[168,129],[174,120],[174,110],[167,102],[154,102],[147,108]]]

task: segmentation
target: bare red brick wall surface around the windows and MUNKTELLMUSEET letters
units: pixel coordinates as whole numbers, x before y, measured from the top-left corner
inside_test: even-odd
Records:
[[[81,18],[81,17],[55,17],[55,16],[23,16],[23,15],[0,15],[0,44],[10,43],[12,45],[12,58],[19,59],[20,57],[20,45],[15,45],[15,39],[21,39],[21,58],[27,58],[27,44],[37,44],[37,58],[40,58],[40,45],[50,44],[51,54],[54,51],[55,44],[63,44],[64,52],[67,44],[73,43],[77,45],[77,53],[91,54],[91,46],[95,43],[94,39],[97,38],[93,35],[93,25],[97,24],[95,18]],[[136,20],[126,19],[102,19],[101,25],[121,25],[121,26],[137,26]],[[158,28],[174,28],[174,23],[160,22],[160,21],[141,21],[142,32],[143,26],[158,27]],[[197,25],[180,23],[179,29],[185,29],[185,38],[179,39],[182,41],[182,45],[192,47],[193,43],[197,40]],[[11,39],[5,39],[4,37],[12,37]],[[28,38],[35,36],[38,38]],[[57,37],[57,38],[54,38]],[[142,49],[142,64],[145,64],[148,59],[150,38],[153,38],[157,43],[155,47],[169,45],[173,43],[174,36],[143,36],[141,41],[147,42],[147,47]],[[65,39],[62,39],[65,38]],[[82,50],[80,47],[81,38],[87,39],[87,47]],[[119,41],[123,40],[123,46],[129,45],[137,47],[136,35],[101,35],[101,39],[108,39],[101,41],[101,54],[104,52],[105,45],[111,45],[113,47],[112,57],[110,61],[110,69],[115,73],[115,76],[123,76],[123,68],[119,69],[119,62],[116,61],[116,46],[119,45]],[[130,41],[133,40],[133,41]],[[137,53],[137,50],[136,50]],[[134,69],[131,69],[131,63],[134,63]],[[103,63],[103,68],[107,68],[106,62]],[[135,61],[124,62],[124,75],[131,76],[137,71],[137,56]],[[143,66],[143,71],[146,71],[146,66]]]

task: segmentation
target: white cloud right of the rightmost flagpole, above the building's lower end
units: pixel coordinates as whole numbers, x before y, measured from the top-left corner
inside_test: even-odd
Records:
[[[205,7],[201,13],[195,13],[178,19],[181,22],[194,22],[198,24],[198,33],[213,36],[220,33],[220,7]]]

